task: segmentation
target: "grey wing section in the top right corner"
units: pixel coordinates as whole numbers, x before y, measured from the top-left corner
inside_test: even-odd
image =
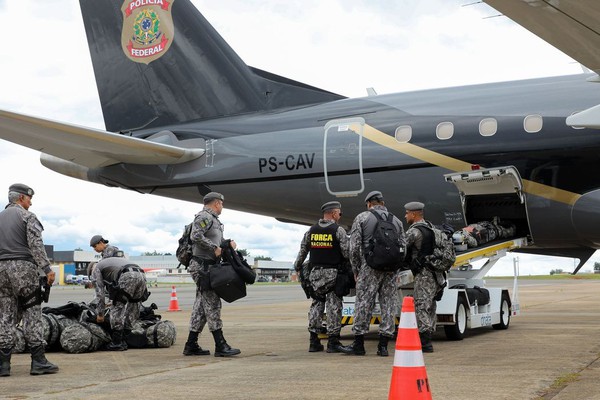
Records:
[[[598,0],[484,0],[508,18],[600,74]]]

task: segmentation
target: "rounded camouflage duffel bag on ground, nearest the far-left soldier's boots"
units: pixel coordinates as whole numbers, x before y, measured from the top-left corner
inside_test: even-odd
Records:
[[[67,353],[96,351],[108,342],[110,336],[104,329],[87,322],[74,322],[60,335],[60,345]]]

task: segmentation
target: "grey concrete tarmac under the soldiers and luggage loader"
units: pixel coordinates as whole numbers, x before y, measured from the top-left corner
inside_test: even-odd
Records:
[[[182,355],[190,307],[161,309],[175,323],[174,346],[86,354],[47,353],[60,367],[54,375],[30,376],[30,357],[16,354],[11,376],[0,378],[3,399],[385,399],[393,366],[376,355],[377,327],[365,341],[366,356],[309,353],[309,301],[297,286],[280,287],[282,298],[265,300],[250,287],[252,302],[225,304],[224,333],[242,350],[239,356],[212,355],[210,334],[200,345],[210,356]],[[153,296],[169,301],[170,287]],[[75,292],[73,292],[75,293]],[[53,293],[56,295],[56,293]],[[263,297],[261,297],[263,296]],[[188,299],[188,297],[190,297]],[[192,288],[178,288],[181,304],[191,304]],[[462,341],[434,337],[425,354],[433,399],[600,399],[600,281],[564,280],[521,285],[521,315],[509,329],[480,328]],[[152,300],[152,298],[151,298]],[[351,328],[342,342],[352,340]],[[323,341],[325,343],[325,341]],[[404,398],[404,397],[398,397]]]

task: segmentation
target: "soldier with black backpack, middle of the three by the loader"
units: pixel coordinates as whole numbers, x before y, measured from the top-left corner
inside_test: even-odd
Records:
[[[375,210],[383,218],[388,217],[383,195],[379,191],[370,192],[365,198],[369,210]],[[402,222],[394,216],[394,226],[400,237],[404,236]],[[354,305],[354,342],[343,348],[344,353],[364,355],[364,335],[369,332],[371,314],[375,298],[379,294],[381,307],[381,323],[379,324],[379,344],[377,355],[386,357],[389,353],[387,344],[394,336],[396,328],[396,309],[398,303],[398,288],[396,285],[397,271],[380,271],[371,268],[365,259],[364,249],[373,237],[377,218],[370,212],[364,211],[356,216],[350,231],[350,263],[356,276],[356,302]],[[398,260],[400,263],[402,260]]]

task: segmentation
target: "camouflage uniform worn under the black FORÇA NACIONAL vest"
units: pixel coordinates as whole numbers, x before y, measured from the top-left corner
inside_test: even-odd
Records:
[[[335,221],[320,219],[318,224],[321,227],[327,227],[334,224]],[[306,231],[300,244],[300,251],[294,262],[294,268],[300,272],[302,263],[310,252],[310,230]],[[342,257],[347,259],[349,252],[349,241],[346,231],[338,226],[336,239],[340,244]],[[310,273],[310,283],[313,290],[318,295],[324,295],[325,301],[313,299],[308,310],[308,331],[319,333],[325,307],[327,307],[327,334],[339,336],[342,329],[342,298],[335,294],[334,286],[338,270],[336,268],[313,269]]]

